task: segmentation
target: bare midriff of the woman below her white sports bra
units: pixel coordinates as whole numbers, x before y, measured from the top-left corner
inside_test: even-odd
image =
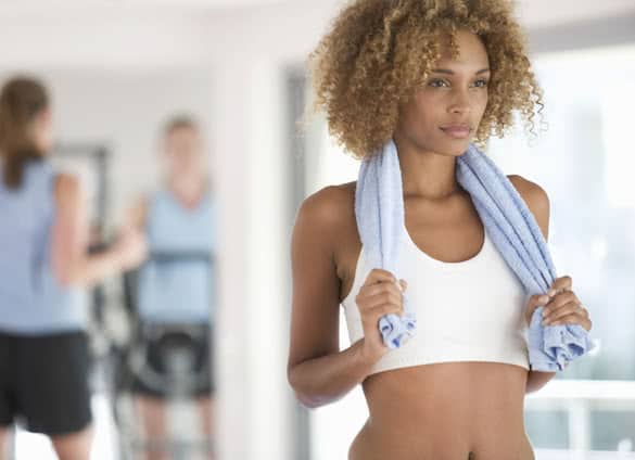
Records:
[[[369,418],[348,460],[534,460],[528,371],[497,362],[394,369],[363,384]]]

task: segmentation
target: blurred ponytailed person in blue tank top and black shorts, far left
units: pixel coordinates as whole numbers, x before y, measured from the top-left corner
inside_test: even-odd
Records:
[[[15,77],[0,91],[0,458],[16,419],[50,436],[61,459],[88,459],[91,411],[81,289],[139,264],[129,228],[88,255],[79,181],[55,174],[46,88]]]

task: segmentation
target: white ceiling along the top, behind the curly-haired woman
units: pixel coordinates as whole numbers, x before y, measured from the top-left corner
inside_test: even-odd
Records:
[[[206,66],[211,55],[231,50],[299,56],[344,1],[0,0],[0,68],[180,68]],[[539,48],[567,37],[579,43],[577,29],[589,30],[590,44],[614,28],[633,41],[635,0],[515,3],[521,24],[548,41]]]

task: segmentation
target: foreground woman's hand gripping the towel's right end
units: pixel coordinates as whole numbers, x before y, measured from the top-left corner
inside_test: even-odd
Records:
[[[588,310],[584,308],[575,293],[571,290],[573,280],[571,277],[564,276],[558,278],[551,284],[551,288],[546,295],[549,296],[548,303],[543,309],[543,325],[557,325],[557,324],[580,324],[586,331],[590,331],[592,321],[588,317]],[[532,315],[539,305],[536,305],[535,297],[532,296],[534,302],[528,304],[526,316],[528,324],[531,324]],[[543,297],[545,298],[545,297]]]

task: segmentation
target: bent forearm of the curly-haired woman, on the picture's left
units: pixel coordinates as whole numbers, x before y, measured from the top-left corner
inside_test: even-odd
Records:
[[[289,383],[304,406],[316,408],[340,399],[361,383],[374,361],[365,355],[361,338],[342,352],[295,365],[289,370]]]

